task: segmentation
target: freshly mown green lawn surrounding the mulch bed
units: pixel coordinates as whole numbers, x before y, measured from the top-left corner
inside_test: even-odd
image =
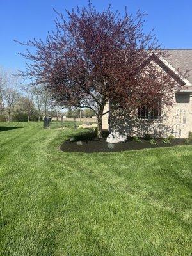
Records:
[[[0,123],[0,255],[191,255],[192,146],[61,152],[74,132]]]

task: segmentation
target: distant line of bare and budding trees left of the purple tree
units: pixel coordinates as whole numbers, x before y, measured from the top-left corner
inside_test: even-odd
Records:
[[[10,70],[0,68],[0,121],[40,121],[43,116],[63,115],[61,110],[44,84],[21,84]]]

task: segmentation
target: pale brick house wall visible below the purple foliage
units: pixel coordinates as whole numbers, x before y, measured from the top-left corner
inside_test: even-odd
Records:
[[[105,111],[110,108],[109,102]],[[127,136],[145,136],[152,134],[154,137],[167,137],[173,134],[176,138],[188,138],[192,132],[192,93],[175,93],[173,106],[163,109],[161,118],[157,120],[130,118],[121,113],[109,113],[102,118],[102,128],[109,131],[119,131]]]

